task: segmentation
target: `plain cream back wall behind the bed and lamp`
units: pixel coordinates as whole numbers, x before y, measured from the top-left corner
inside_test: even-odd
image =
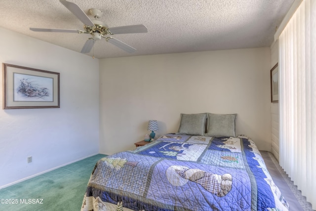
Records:
[[[271,151],[270,48],[100,59],[100,152],[134,148],[148,120],[176,132],[181,113],[237,113],[237,133]]]

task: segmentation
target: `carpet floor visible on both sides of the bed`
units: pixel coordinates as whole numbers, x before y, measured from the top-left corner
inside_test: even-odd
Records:
[[[290,211],[312,211],[300,191],[277,164],[270,152],[261,151],[267,169],[290,205]],[[0,211],[80,211],[83,195],[98,154],[26,181],[0,189]],[[11,200],[11,201],[9,201]],[[31,200],[31,201],[30,201]]]

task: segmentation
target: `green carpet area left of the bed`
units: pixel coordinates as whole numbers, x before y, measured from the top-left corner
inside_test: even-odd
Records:
[[[1,189],[0,211],[80,211],[94,165],[105,156],[98,154]]]

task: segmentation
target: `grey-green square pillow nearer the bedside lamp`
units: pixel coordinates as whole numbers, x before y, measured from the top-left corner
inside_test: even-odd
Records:
[[[204,135],[206,113],[181,114],[178,133],[187,135]]]

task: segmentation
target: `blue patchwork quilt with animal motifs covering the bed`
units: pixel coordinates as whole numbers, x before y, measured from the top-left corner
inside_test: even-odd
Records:
[[[166,134],[96,164],[81,211],[287,211],[247,136]]]

